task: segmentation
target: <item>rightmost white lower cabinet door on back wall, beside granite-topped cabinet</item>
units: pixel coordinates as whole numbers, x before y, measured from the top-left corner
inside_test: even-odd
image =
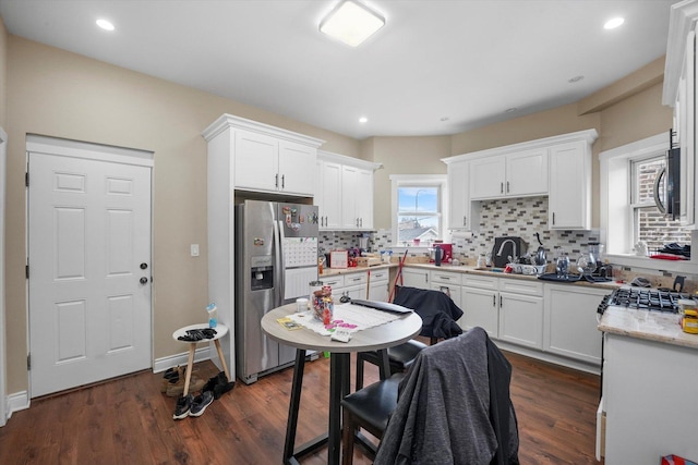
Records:
[[[602,333],[597,308],[609,293],[610,290],[546,284],[543,348],[600,365]]]

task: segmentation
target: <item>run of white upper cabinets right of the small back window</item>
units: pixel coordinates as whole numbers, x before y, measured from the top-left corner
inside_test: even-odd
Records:
[[[550,229],[590,229],[591,145],[597,137],[595,130],[587,130],[443,158],[449,228],[476,229],[479,200],[549,196]]]

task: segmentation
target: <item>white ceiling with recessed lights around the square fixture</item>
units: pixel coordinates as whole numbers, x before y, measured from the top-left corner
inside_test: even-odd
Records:
[[[0,0],[0,15],[11,34],[362,139],[577,101],[663,56],[676,3],[364,0],[386,25],[349,48],[317,29],[338,1]]]

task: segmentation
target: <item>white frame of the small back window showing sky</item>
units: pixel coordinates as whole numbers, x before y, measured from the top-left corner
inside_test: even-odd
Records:
[[[450,242],[450,232],[446,228],[448,211],[448,184],[446,174],[390,174],[390,230],[393,233],[392,248],[428,250],[431,244],[420,244],[419,247],[399,244],[398,232],[398,188],[399,187],[438,187],[438,231],[445,243]]]

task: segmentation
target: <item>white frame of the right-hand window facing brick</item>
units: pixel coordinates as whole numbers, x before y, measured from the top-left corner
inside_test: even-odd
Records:
[[[696,254],[690,260],[669,261],[636,256],[633,252],[635,208],[631,204],[631,161],[648,160],[665,154],[667,149],[666,134],[662,133],[599,154],[601,242],[605,244],[605,256],[612,264],[689,273],[696,270]],[[691,248],[695,249],[698,232],[696,225],[689,228],[693,230]]]

